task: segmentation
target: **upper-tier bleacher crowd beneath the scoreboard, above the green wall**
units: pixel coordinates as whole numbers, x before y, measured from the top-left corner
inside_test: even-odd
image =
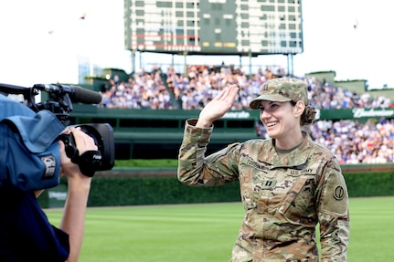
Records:
[[[249,78],[242,68],[190,66],[187,75],[168,68],[166,75],[161,68],[151,72],[141,68],[127,82],[110,80],[110,89],[103,92],[101,107],[154,110],[200,110],[229,84],[240,87],[240,96],[233,110],[248,110],[249,101],[259,94],[261,84],[268,79],[283,77],[282,67],[259,68]],[[311,104],[316,109],[388,108],[390,100],[372,98],[368,93],[356,94],[316,79],[304,79],[309,84]],[[176,101],[176,103],[173,102]]]

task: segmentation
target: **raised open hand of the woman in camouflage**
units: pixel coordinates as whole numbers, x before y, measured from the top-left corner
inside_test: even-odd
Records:
[[[210,127],[213,121],[224,116],[225,113],[231,109],[232,103],[237,97],[238,90],[239,88],[237,85],[231,85],[227,89],[220,91],[220,93],[201,110],[196,127]]]

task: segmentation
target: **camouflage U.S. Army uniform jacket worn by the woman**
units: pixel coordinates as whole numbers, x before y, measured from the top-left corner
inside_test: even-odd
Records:
[[[240,182],[246,214],[230,262],[346,261],[348,195],[331,152],[303,132],[293,150],[277,152],[274,140],[235,143],[205,157],[213,127],[186,121],[178,180],[192,186]]]

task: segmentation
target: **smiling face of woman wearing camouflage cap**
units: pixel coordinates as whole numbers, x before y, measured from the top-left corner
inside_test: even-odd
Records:
[[[293,106],[292,102],[261,100],[261,122],[277,147],[290,149],[302,140],[300,117],[304,108],[303,101]]]

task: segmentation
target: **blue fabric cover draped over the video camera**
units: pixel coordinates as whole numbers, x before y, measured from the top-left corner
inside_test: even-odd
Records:
[[[58,137],[63,124],[48,110],[35,113],[0,95],[0,188],[23,191],[59,184]]]

